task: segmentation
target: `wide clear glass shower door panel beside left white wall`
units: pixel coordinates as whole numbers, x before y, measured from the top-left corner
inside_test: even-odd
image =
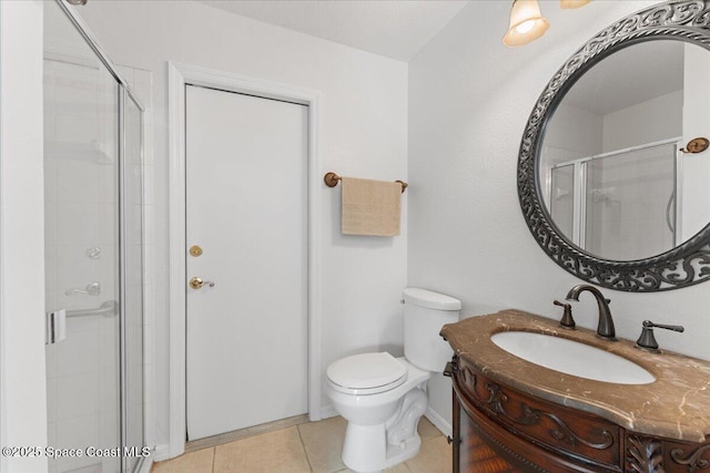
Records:
[[[51,472],[119,472],[121,459],[120,86],[54,2],[44,4],[45,310]]]

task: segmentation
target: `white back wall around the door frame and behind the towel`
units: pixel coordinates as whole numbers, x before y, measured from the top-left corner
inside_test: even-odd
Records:
[[[407,64],[271,27],[190,1],[89,2],[82,17],[111,59],[152,71],[154,84],[154,258],[168,280],[166,61],[250,75],[321,92],[320,174],[407,179]],[[151,138],[151,137],[149,137]],[[320,183],[316,185],[321,186]],[[403,207],[413,189],[407,189]],[[368,350],[400,354],[400,291],[406,282],[406,210],[402,236],[342,236],[339,187],[321,186],[322,366]],[[274,295],[277,297],[278,295]],[[168,442],[168,287],[155,286],[158,443]],[[327,398],[323,394],[323,403]]]

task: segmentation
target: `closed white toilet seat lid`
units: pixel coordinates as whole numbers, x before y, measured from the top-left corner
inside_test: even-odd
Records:
[[[407,369],[392,354],[362,353],[343,358],[327,369],[328,384],[346,394],[377,394],[407,380]]]

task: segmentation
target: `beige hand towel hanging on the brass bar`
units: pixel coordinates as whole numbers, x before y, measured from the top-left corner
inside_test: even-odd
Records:
[[[402,184],[343,177],[343,234],[399,235]]]

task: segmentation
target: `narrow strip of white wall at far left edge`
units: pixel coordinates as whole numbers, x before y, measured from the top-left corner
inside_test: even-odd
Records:
[[[0,2],[0,445],[47,444],[42,2]],[[0,471],[47,471],[0,456]]]

